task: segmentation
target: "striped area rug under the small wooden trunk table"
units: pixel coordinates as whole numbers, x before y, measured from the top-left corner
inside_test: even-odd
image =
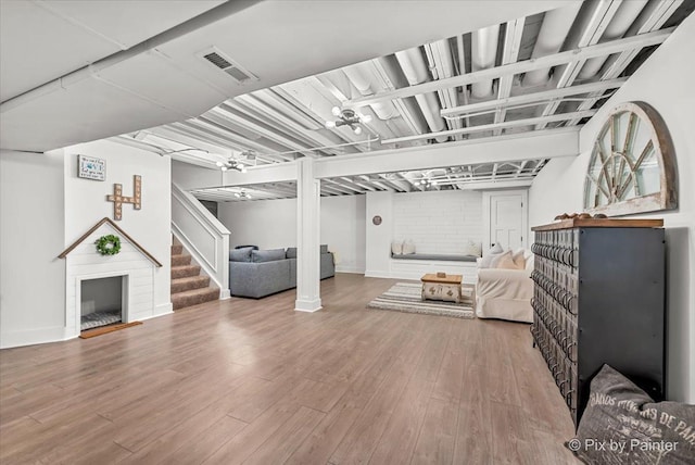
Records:
[[[422,301],[420,297],[422,285],[418,282],[396,282],[391,289],[369,302],[367,309],[472,318],[475,316],[472,290],[472,286],[464,285],[464,301],[462,303],[438,300]]]

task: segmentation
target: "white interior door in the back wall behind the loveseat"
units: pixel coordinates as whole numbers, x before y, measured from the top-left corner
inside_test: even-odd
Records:
[[[490,192],[484,196],[483,204],[486,208],[488,240],[486,247],[495,243],[506,249],[519,249],[527,247],[527,192],[505,191]],[[488,201],[485,201],[488,200]]]

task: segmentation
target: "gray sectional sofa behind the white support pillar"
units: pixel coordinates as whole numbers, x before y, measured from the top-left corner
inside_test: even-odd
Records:
[[[320,279],[336,275],[333,254],[320,249]],[[296,248],[229,251],[229,291],[237,297],[262,298],[296,287]]]

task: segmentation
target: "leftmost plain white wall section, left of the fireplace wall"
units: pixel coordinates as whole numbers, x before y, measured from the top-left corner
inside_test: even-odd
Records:
[[[62,339],[64,177],[60,151],[0,152],[0,347]]]

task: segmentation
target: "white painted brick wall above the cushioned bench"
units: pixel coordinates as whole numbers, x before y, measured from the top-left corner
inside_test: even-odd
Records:
[[[412,240],[421,253],[462,253],[481,242],[482,193],[431,191],[393,197],[393,240]]]

